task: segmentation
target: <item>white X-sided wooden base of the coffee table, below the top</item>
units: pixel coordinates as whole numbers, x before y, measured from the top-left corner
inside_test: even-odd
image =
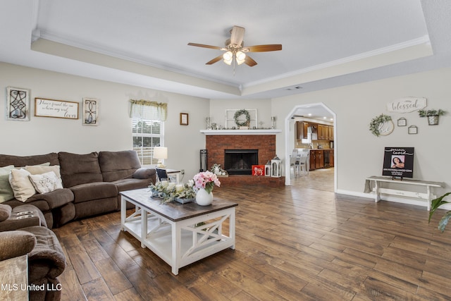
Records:
[[[135,204],[130,216],[125,214],[126,202]],[[174,275],[181,267],[211,254],[227,248],[235,250],[235,207],[180,221],[171,221],[124,196],[121,207],[123,231],[169,264]]]

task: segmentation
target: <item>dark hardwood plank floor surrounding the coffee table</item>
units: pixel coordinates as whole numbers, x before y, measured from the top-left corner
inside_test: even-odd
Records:
[[[236,250],[178,276],[120,213],[54,229],[68,265],[62,300],[450,300],[451,230],[440,212],[335,195],[333,168],[283,188],[215,188],[239,203]],[[362,190],[364,181],[362,180]]]

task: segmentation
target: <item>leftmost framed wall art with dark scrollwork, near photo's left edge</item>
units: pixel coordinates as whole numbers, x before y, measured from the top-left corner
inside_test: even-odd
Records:
[[[6,120],[30,121],[30,90],[6,87]]]

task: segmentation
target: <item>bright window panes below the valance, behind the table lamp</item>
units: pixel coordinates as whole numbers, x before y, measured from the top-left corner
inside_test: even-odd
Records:
[[[133,149],[137,152],[142,166],[156,165],[154,147],[162,147],[164,122],[132,118]]]

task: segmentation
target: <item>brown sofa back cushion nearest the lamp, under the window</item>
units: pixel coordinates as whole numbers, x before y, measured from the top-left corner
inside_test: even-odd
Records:
[[[140,159],[134,150],[99,152],[99,165],[106,182],[132,178],[133,173],[141,167]]]

